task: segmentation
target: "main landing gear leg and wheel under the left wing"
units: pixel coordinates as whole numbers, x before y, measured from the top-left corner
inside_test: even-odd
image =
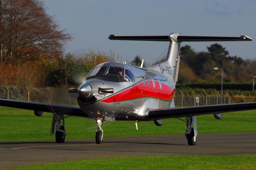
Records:
[[[61,121],[62,121],[62,123],[61,123]],[[61,115],[61,116],[56,115],[56,114],[53,115],[50,136],[52,136],[52,134],[54,134],[55,123],[56,123],[55,140],[57,143],[64,143],[65,137],[67,136],[66,131],[65,131],[64,115]]]

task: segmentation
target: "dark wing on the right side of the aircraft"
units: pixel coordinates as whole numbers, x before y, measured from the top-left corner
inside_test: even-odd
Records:
[[[234,111],[256,110],[256,102],[235,103],[225,105],[208,105],[193,107],[177,107],[168,109],[154,109],[148,112],[150,120],[218,114]]]

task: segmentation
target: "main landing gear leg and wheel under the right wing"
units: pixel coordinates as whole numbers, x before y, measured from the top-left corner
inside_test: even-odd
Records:
[[[196,117],[189,116],[186,117],[187,126],[185,136],[188,140],[188,145],[196,145],[196,137],[197,137],[197,128],[196,128]],[[194,128],[191,127],[193,121]]]

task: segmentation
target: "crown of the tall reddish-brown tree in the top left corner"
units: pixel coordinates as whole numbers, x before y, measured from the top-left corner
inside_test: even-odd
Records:
[[[59,30],[40,0],[0,1],[0,62],[59,57],[70,34]]]

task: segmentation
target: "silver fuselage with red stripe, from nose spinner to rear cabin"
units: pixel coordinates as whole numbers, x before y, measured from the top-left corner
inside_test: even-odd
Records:
[[[78,105],[95,119],[147,121],[148,111],[170,107],[174,94],[174,81],[157,71],[106,62],[78,87]]]

